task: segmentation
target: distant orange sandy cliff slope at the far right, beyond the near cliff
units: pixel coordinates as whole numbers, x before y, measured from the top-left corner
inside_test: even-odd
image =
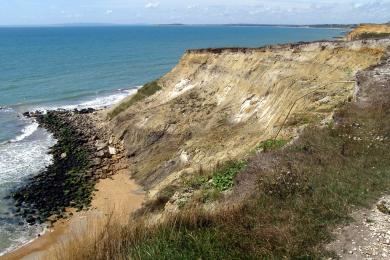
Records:
[[[347,40],[390,36],[390,24],[361,24],[346,36]]]

